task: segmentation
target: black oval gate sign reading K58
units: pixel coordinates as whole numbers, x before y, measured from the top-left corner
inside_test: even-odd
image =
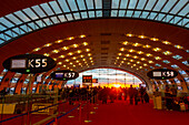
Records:
[[[152,70],[147,73],[150,79],[156,80],[166,80],[166,79],[173,79],[178,75],[177,71],[168,70],[168,69],[157,69]]]

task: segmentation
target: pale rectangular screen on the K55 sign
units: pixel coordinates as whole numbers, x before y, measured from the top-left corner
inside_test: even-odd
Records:
[[[11,69],[26,69],[27,67],[27,61],[26,59],[12,59],[11,60]]]

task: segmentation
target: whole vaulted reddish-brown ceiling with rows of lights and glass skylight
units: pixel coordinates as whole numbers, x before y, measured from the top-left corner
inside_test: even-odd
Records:
[[[179,0],[173,3],[168,0],[100,0],[101,3],[97,0],[90,0],[91,3],[87,0],[48,1],[7,0],[1,4],[1,64],[12,55],[37,53],[54,59],[57,66],[53,70],[81,72],[113,67],[133,73],[148,84],[147,72],[167,67],[186,72],[178,77],[187,85],[183,79],[188,77],[186,11],[189,9],[185,0],[182,3]],[[81,8],[82,2],[84,9]],[[165,10],[167,6],[170,9]],[[56,7],[61,12],[57,13]],[[49,15],[47,8],[51,9],[52,14]],[[131,15],[128,14],[130,12]],[[21,14],[28,19],[22,19]],[[3,67],[0,66],[0,70]]]

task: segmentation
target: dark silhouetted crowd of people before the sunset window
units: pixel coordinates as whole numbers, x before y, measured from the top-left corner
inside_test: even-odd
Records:
[[[76,100],[88,100],[92,97],[92,101],[102,102],[107,104],[107,101],[110,100],[110,103],[113,103],[115,100],[125,100],[129,101],[132,105],[137,105],[140,101],[141,103],[149,103],[149,96],[146,92],[146,88],[140,86],[139,88],[132,87],[66,87],[59,90],[61,98],[68,98],[70,104],[73,104]]]

